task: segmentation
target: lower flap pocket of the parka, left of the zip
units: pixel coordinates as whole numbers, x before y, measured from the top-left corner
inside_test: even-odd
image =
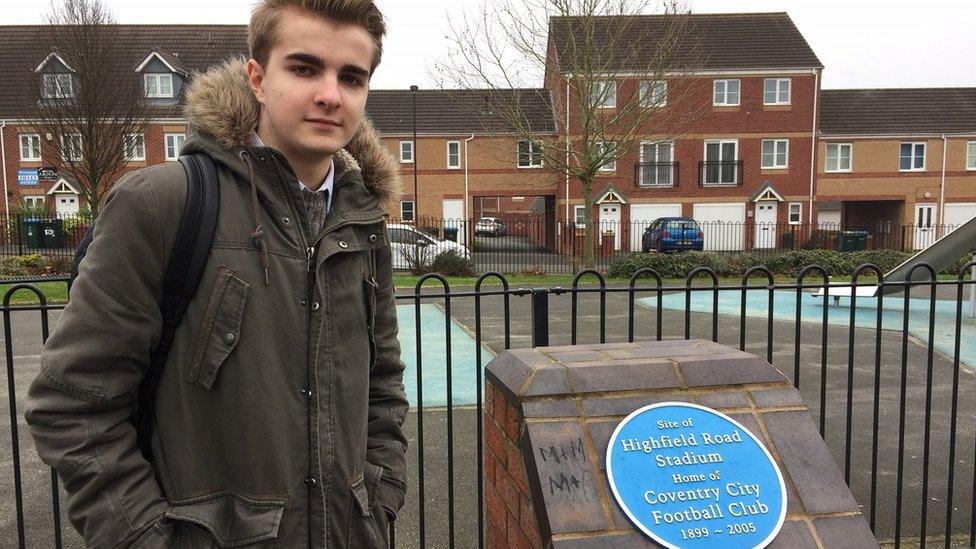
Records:
[[[166,516],[202,527],[218,547],[239,547],[276,539],[285,504],[224,491],[173,502]]]

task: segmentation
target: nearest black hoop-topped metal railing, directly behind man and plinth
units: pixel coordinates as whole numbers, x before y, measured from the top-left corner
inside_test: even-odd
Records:
[[[482,374],[491,355],[511,347],[708,338],[757,354],[791,378],[880,540],[896,548],[973,546],[973,268],[933,281],[934,270],[920,264],[914,269],[924,281],[899,282],[864,265],[850,282],[830,283],[828,271],[814,265],[778,283],[757,266],[727,285],[709,268],[671,285],[649,269],[618,285],[585,270],[571,286],[554,288],[514,288],[503,275],[485,273],[459,289],[426,275],[396,296],[401,343],[414,347],[403,355],[414,405],[405,424],[413,441],[410,489],[391,527],[395,545],[484,547],[481,464],[490,450],[481,427]],[[813,295],[828,285],[855,297]],[[878,297],[858,297],[865,287],[878,287]],[[11,304],[24,293],[39,303]],[[13,484],[0,485],[0,497],[13,500],[16,522],[0,523],[0,545],[80,543],[61,520],[57,478],[37,460],[29,438],[18,435],[25,395],[16,388],[36,371],[50,312],[62,307],[28,284],[4,295],[10,432],[3,436],[12,449]],[[436,331],[425,331],[438,315],[443,332],[437,323]],[[411,318],[414,324],[405,326]],[[472,387],[474,394],[459,400]]]

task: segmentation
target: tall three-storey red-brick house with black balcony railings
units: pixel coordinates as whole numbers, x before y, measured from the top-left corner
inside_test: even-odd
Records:
[[[646,44],[628,51],[653,49],[667,26],[665,17],[630,18],[631,32]],[[653,126],[655,116],[673,116],[667,110],[674,108],[699,115],[677,137],[643,136],[636,153],[602,171],[594,185],[593,221],[605,232],[620,227],[614,235],[618,250],[638,250],[643,228],[664,216],[703,222],[706,248],[773,247],[778,224],[802,223],[814,207],[811,156],[823,65],[785,13],[678,17],[687,19],[689,41],[679,49],[695,48],[701,61],[692,73],[666,75],[663,93],[680,94],[683,104],[665,99],[650,122]],[[601,17],[594,24],[617,23]],[[576,98],[567,97],[571,67],[561,65],[561,59],[568,56],[563,52],[569,44],[584,40],[573,38],[570,28],[558,21],[552,26],[545,85],[553,90],[557,119],[565,120],[569,109],[568,128],[559,132],[578,136]],[[613,36],[600,28],[593,34]],[[627,75],[640,74],[643,57],[625,53],[610,63],[614,95],[637,93],[642,83]],[[578,182],[566,183],[559,212],[579,222],[582,188]]]

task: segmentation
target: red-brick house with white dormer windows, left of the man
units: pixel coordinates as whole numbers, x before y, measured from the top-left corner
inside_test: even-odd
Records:
[[[44,26],[0,26],[0,134],[5,214],[21,207],[44,208],[70,215],[84,207],[78,184],[62,173],[55,139],[71,136],[38,135],[23,123],[38,91],[31,89],[40,74],[55,94],[74,93],[71,69],[49,46],[38,40]],[[247,51],[240,25],[120,25],[122,70],[142,74],[155,116],[142,134],[132,137],[130,160],[119,175],[133,169],[174,161],[186,136],[181,98],[186,81],[196,71]],[[50,94],[51,89],[45,90]],[[84,154],[84,151],[80,151]],[[47,168],[38,177],[38,169]]]

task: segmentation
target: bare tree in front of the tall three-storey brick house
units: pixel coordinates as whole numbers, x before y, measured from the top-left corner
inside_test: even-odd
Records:
[[[519,155],[582,187],[592,266],[600,169],[642,141],[674,139],[705,112],[688,94],[703,56],[686,10],[677,0],[484,0],[452,22],[448,40],[434,69],[441,86],[486,89],[492,114],[522,141]],[[555,102],[555,134],[533,127],[525,94],[510,92],[540,81]]]

